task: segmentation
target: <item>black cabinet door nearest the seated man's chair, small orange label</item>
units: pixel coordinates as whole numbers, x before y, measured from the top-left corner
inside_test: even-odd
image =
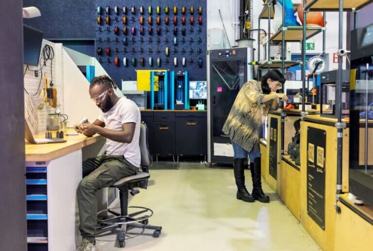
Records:
[[[155,122],[153,125],[153,153],[175,154],[175,123]]]

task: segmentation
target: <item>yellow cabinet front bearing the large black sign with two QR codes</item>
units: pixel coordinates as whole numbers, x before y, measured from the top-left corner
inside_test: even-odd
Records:
[[[324,251],[335,250],[337,120],[306,115],[301,122],[301,223]],[[342,187],[348,190],[348,128],[343,130]]]

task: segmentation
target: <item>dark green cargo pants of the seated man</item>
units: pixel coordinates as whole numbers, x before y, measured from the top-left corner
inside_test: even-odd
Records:
[[[82,236],[95,242],[97,226],[97,196],[101,188],[107,188],[119,179],[135,175],[137,167],[122,155],[102,155],[83,162],[83,179],[77,189],[79,230]]]

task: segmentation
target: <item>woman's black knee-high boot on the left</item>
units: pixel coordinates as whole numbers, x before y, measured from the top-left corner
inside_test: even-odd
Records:
[[[244,163],[244,158],[234,159],[234,173],[237,185],[237,200],[242,200],[244,202],[254,202],[255,198],[247,191],[245,187]]]

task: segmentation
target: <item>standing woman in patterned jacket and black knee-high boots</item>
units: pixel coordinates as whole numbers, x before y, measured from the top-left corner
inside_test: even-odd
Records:
[[[277,109],[278,99],[288,100],[285,94],[277,93],[284,83],[285,78],[278,70],[269,71],[258,81],[245,83],[223,126],[223,132],[230,137],[233,145],[238,200],[270,202],[261,186],[259,134],[269,110]],[[248,155],[253,179],[252,194],[245,187],[244,162]]]

